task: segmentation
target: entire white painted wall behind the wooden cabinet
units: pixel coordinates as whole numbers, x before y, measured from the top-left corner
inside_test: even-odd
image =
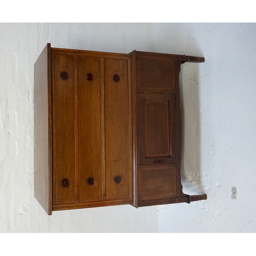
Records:
[[[0,232],[256,231],[255,24],[0,24],[0,34]],[[33,196],[33,65],[47,42],[204,56],[181,72],[183,183],[208,200],[49,217]]]

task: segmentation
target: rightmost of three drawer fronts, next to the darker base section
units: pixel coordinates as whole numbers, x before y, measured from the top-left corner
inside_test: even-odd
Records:
[[[105,185],[107,200],[130,197],[132,165],[130,163],[127,65],[127,60],[104,59]]]

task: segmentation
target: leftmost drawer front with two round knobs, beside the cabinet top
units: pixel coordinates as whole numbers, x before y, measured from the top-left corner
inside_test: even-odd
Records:
[[[54,54],[53,58],[55,204],[75,203],[74,56]]]

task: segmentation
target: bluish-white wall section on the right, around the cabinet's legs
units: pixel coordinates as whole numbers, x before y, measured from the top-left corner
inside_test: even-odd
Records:
[[[180,79],[183,191],[208,199],[159,206],[159,231],[255,232],[256,24],[156,24],[154,33],[156,51],[205,57]]]

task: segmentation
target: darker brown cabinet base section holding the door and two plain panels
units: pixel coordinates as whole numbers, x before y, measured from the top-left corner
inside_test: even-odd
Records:
[[[139,148],[135,206],[184,201],[179,199],[186,197],[180,181],[179,66],[186,56],[142,52],[132,56],[138,84],[134,93]]]

